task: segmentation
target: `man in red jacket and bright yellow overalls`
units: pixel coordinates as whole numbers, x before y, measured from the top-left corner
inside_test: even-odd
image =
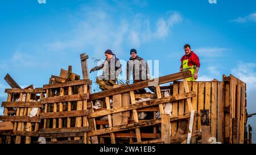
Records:
[[[180,72],[181,71],[191,71],[192,76],[190,78],[187,78],[188,81],[196,81],[198,78],[197,73],[200,68],[200,61],[199,57],[191,51],[190,45],[186,44],[184,45],[185,55],[180,59],[181,66],[180,66]]]

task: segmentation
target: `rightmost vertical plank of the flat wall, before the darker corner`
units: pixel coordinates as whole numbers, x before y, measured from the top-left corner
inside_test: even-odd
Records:
[[[223,129],[224,129],[224,103],[223,103],[223,83],[218,82],[218,98],[217,98],[217,141],[224,143],[223,141]]]

